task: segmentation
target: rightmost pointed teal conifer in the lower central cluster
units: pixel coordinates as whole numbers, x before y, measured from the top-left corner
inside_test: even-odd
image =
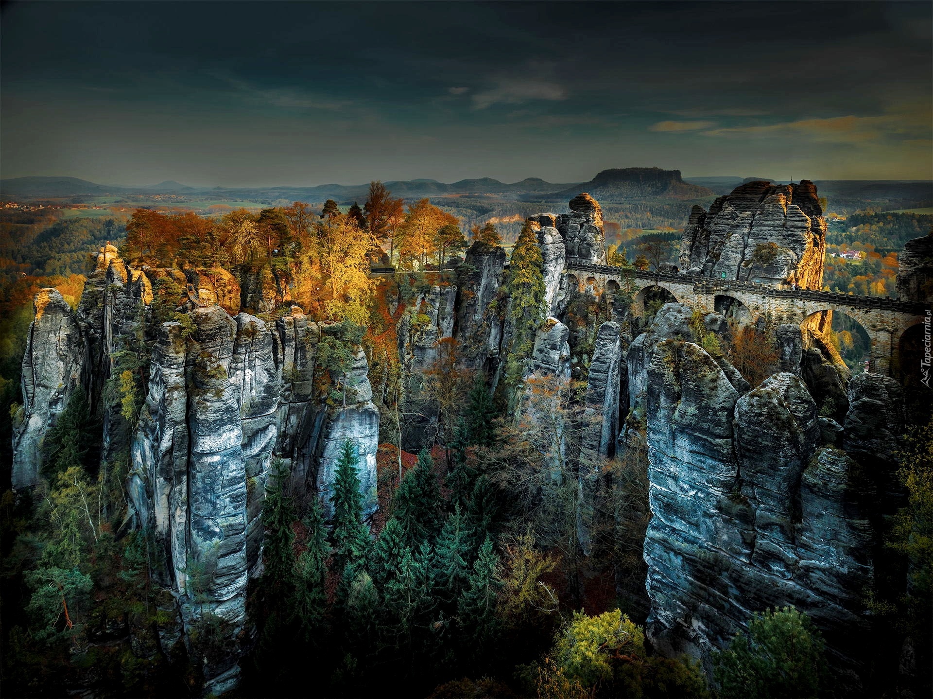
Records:
[[[481,663],[491,656],[498,636],[496,600],[502,588],[498,568],[499,557],[493,551],[493,541],[486,537],[469,574],[469,587],[457,604],[463,646],[473,655],[474,662]]]

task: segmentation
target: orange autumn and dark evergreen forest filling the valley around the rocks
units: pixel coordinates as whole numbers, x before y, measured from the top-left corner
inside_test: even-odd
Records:
[[[711,675],[699,662],[665,657],[648,642],[645,417],[622,415],[628,448],[588,462],[584,433],[591,416],[583,393],[594,339],[586,333],[609,319],[605,301],[580,294],[569,303],[568,324],[579,334],[571,380],[528,377],[522,358],[531,354],[536,332],[552,321],[540,247],[527,223],[518,224],[508,275],[492,308],[513,329],[498,384],[465,369],[452,343],[439,343],[437,361],[421,375],[399,361],[403,315],[412,328],[428,329],[426,295],[477,273],[466,263],[467,249],[492,254],[502,245],[502,224],[488,216],[495,213],[483,212],[467,225],[437,202],[405,205],[373,183],[363,206],[346,211],[330,200],[320,209],[296,202],[219,217],[138,209],[125,225],[109,218],[60,220],[28,245],[8,246],[9,273],[0,287],[0,388],[12,422],[21,414],[28,301],[40,286],[52,286],[77,307],[94,273],[89,253],[109,242],[135,269],[195,271],[213,277],[218,289],[216,280],[232,275],[244,289],[244,306],[263,320],[272,322],[298,304],[315,321],[339,324],[318,345],[313,382],[328,404],[345,406],[346,384],[333,377],[347,375],[361,346],[369,381],[380,387],[373,399],[382,443],[374,514],[364,510],[352,440],[341,445],[325,497],[296,488],[274,460],[261,509],[261,575],[248,587],[251,630],[231,639],[226,622],[203,611],[191,622],[188,645],[176,635],[166,646],[160,637],[172,635],[174,601],[156,573],[163,565],[160,547],[153,532],[128,525],[129,438],[114,446],[97,437],[104,415],[118,414],[126,434],[138,425],[154,329],[174,321],[183,337],[194,332],[178,310],[188,299],[185,279],[163,274],[152,285],[151,317],[133,327],[104,390],[72,394],[49,431],[42,479],[31,493],[9,490],[10,432],[4,428],[5,693],[197,696],[213,665],[245,649],[243,678],[231,695],[277,693],[309,681],[328,696],[386,688],[405,688],[411,696],[553,699],[833,695],[837,678],[824,639],[795,608],[760,610],[747,634],[727,639],[717,651]],[[625,220],[632,227],[607,231],[614,243],[609,264],[658,269],[674,259],[678,233],[663,228],[676,214],[630,211]],[[659,220],[663,228],[649,228]],[[842,263],[833,262],[828,284],[863,293],[864,276],[868,293],[886,295],[886,282],[884,289],[871,287],[878,284],[871,278],[896,271],[893,260],[892,268],[888,257],[870,254],[848,286]],[[397,270],[390,278],[371,273],[389,266]],[[255,298],[272,299],[269,307],[251,301],[249,288],[257,289]],[[634,295],[620,290],[617,302],[631,306]],[[664,302],[647,297],[644,315],[626,312],[633,334],[650,327]],[[728,361],[748,384],[777,370],[772,326],[733,325],[722,340],[705,329],[699,312],[689,322],[703,350]],[[855,345],[864,352],[856,329],[841,323],[834,327],[837,348]],[[850,359],[851,366],[859,360]],[[428,405],[434,432],[425,448],[409,451],[407,435],[422,428]],[[831,401],[819,407],[826,418],[838,412]],[[933,569],[931,429],[914,426],[903,442],[899,477],[907,499],[884,544],[892,570],[911,580],[909,592],[892,592],[896,585],[886,587],[886,580],[864,592],[876,620],[873,642],[906,633],[921,657],[927,657],[922,626]],[[102,459],[105,449],[114,454],[109,461]],[[573,475],[581,464],[604,476],[595,499]],[[741,498],[736,494],[736,503]],[[595,523],[584,538],[582,521]],[[210,572],[188,562],[195,599]],[[884,687],[888,671],[879,667],[871,686]]]

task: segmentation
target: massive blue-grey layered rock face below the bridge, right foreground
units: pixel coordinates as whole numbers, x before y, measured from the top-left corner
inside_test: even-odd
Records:
[[[652,642],[708,662],[753,612],[792,604],[834,664],[857,670],[870,496],[851,458],[820,447],[806,385],[785,372],[740,396],[689,342],[655,343],[646,358]]]

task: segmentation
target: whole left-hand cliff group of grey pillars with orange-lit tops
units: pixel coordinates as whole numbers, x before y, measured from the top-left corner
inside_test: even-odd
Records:
[[[55,289],[36,295],[14,432],[14,486],[31,486],[49,426],[78,387],[87,391],[102,418],[102,462],[129,454],[128,520],[161,549],[153,574],[176,600],[176,622],[160,628],[163,648],[179,636],[190,646],[207,618],[221,624],[222,650],[199,656],[191,646],[215,693],[236,684],[240,644],[250,638],[246,584],[260,571],[272,459],[291,469],[294,487],[327,501],[341,442],[351,440],[364,510],[376,508],[379,412],[366,356],[350,346],[344,370],[321,369],[317,345],[340,326],[311,323],[298,307],[268,326],[230,315],[239,302],[228,273],[135,270],[107,245],[77,313]],[[169,312],[174,319],[160,323]],[[453,318],[441,331],[451,326]],[[121,357],[146,356],[150,345],[145,401],[131,421],[104,384]],[[324,372],[321,393],[314,380]]]

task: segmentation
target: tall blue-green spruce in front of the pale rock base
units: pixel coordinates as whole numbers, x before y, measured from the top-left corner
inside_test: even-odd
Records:
[[[359,492],[359,477],[356,475],[356,448],[350,440],[343,440],[341,444],[330,501],[334,506],[331,534],[334,570],[343,573],[348,563],[363,561],[369,551],[369,531],[363,524],[363,496]]]

